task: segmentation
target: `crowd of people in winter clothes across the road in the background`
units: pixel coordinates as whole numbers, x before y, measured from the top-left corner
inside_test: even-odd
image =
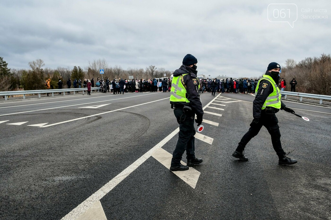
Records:
[[[50,81],[50,80],[49,80]],[[258,84],[258,80],[255,79],[199,79],[200,83],[200,93],[211,92],[215,96],[215,92],[227,92],[227,93],[244,93],[244,94],[254,94],[255,88]],[[62,89],[62,81],[59,79],[58,88]],[[171,80],[170,78],[153,78],[153,79],[114,79],[106,80],[97,78],[94,83],[94,78],[91,80],[84,79],[74,79],[73,88],[88,88],[88,92],[91,91],[93,87],[100,87],[98,92],[113,92],[114,94],[124,94],[124,92],[170,92],[171,90]],[[293,78],[290,82],[291,92],[295,92],[295,87],[298,84]],[[286,81],[282,78],[279,83],[281,91],[286,88]],[[67,88],[71,88],[71,78],[67,81]],[[49,89],[49,86],[47,86]],[[70,93],[70,92],[68,92]],[[89,93],[90,94],[90,93]]]

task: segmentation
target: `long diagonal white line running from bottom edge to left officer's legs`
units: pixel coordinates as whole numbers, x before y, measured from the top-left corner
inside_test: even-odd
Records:
[[[74,220],[77,219],[81,214],[86,212],[88,208],[90,208],[95,202],[99,201],[102,197],[104,197],[107,193],[109,193],[115,186],[118,185],[123,179],[125,179],[130,173],[132,173],[138,166],[144,163],[155,150],[161,148],[168,142],[173,136],[175,136],[179,131],[179,128],[172,131],[168,136],[166,136],[160,143],[155,145],[152,149],[147,151],[143,156],[141,156],[138,160],[133,162],[133,164],[129,165],[122,172],[120,172],[117,176],[115,176],[112,180],[106,183],[103,187],[101,187],[98,191],[93,193],[89,198],[80,203],[77,207],[71,210],[66,216],[62,218],[62,220]]]

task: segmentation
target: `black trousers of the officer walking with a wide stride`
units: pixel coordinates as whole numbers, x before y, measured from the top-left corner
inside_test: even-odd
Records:
[[[261,118],[259,120],[259,123],[252,122],[250,124],[250,128],[247,131],[247,133],[241,138],[238,148],[241,150],[245,149],[246,144],[255,137],[262,126],[264,126],[270,136],[271,136],[271,143],[273,146],[273,149],[276,151],[277,155],[281,156],[284,155],[285,152],[282,148],[282,144],[280,142],[280,131],[278,126],[278,119],[275,114],[266,114],[265,111],[261,112]]]

